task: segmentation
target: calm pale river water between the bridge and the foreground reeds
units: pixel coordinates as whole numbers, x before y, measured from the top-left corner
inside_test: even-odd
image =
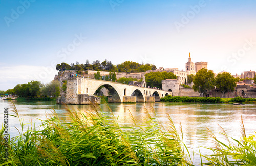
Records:
[[[63,119],[69,119],[65,111],[65,105],[56,105],[56,102],[51,101],[36,101],[36,102],[16,102],[20,117],[24,122],[30,122],[40,125],[40,120],[46,119],[46,114],[52,114],[51,110],[55,109],[57,114]],[[198,152],[198,147],[203,154],[210,154],[211,152],[202,147],[212,147],[210,143],[209,128],[220,140],[222,136],[218,133],[219,126],[226,131],[227,135],[239,139],[241,115],[243,117],[246,134],[255,134],[256,131],[256,105],[230,105],[230,104],[200,104],[200,103],[136,103],[136,104],[109,104],[114,115],[118,118],[119,124],[132,125],[133,122],[129,118],[129,110],[140,122],[143,122],[145,115],[144,109],[153,107],[161,123],[166,123],[166,113],[170,114],[173,122],[179,129],[181,122],[184,134],[184,142],[189,148],[190,152],[195,149]],[[10,107],[10,102],[7,100],[0,100],[0,124],[4,122],[4,107]],[[90,109],[88,105],[70,105],[79,110]],[[105,105],[101,105],[104,112],[108,112]],[[19,129],[18,119],[9,117],[10,136],[13,137],[18,134],[15,127]],[[194,156],[194,164],[200,161],[199,155]]]

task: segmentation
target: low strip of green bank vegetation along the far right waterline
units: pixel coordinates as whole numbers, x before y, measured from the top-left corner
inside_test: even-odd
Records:
[[[195,102],[195,103],[256,103],[255,98],[220,98],[220,97],[187,97],[187,96],[165,96],[163,102]]]

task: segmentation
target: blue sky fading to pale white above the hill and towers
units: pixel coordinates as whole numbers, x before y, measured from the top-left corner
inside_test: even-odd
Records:
[[[256,1],[0,1],[0,90],[50,82],[58,63],[107,59],[255,71]]]

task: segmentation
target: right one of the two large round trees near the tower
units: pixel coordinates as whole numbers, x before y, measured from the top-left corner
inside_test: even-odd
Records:
[[[215,85],[222,92],[222,97],[227,90],[234,91],[236,87],[236,79],[228,72],[219,73],[215,78]]]

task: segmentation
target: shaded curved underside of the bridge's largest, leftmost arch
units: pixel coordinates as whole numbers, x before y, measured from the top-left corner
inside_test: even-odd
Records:
[[[95,90],[94,92],[96,92],[96,90],[99,88],[99,87],[105,87],[106,89],[108,89],[108,91],[110,92],[111,94],[111,97],[109,96],[108,98],[108,102],[111,102],[111,103],[122,103],[122,100],[120,98],[120,94],[117,92],[117,90],[109,85],[109,84],[100,84]]]

